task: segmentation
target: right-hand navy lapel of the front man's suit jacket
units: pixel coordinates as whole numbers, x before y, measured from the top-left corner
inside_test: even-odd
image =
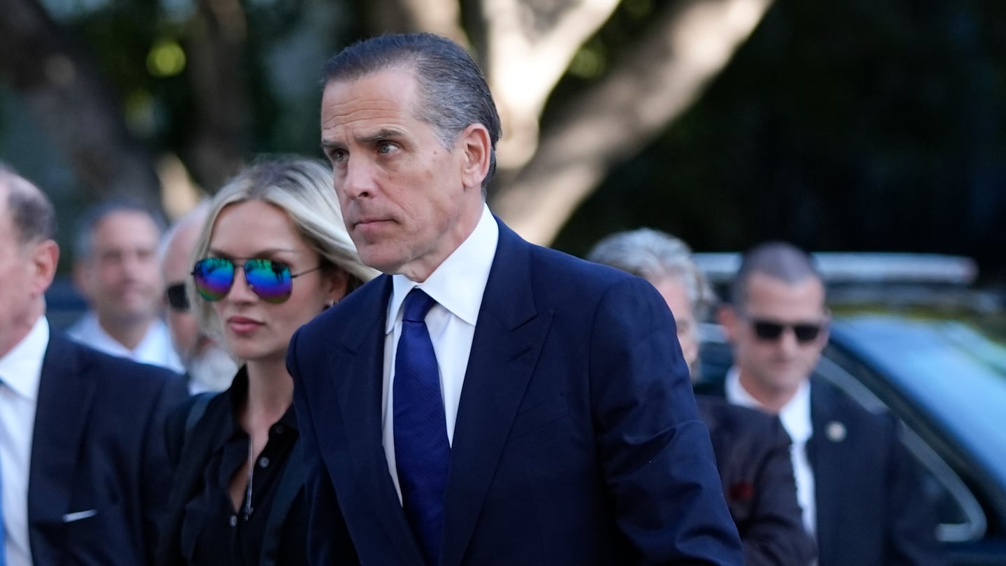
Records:
[[[530,246],[500,224],[451,448],[441,563],[460,564],[548,331],[534,308]]]

